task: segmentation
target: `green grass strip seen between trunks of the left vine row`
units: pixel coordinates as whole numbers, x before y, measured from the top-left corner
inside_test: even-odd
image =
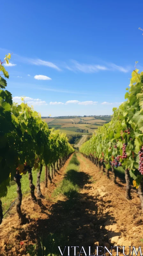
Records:
[[[40,181],[45,180],[44,170],[45,170],[45,166],[43,166]],[[36,181],[37,181],[37,171],[36,170],[32,172],[32,176],[33,176],[33,184],[36,185]],[[16,190],[17,190],[17,184],[15,183],[15,181],[12,181],[10,183],[10,186],[8,186],[7,195],[5,197],[1,198],[3,212],[6,212],[8,210],[8,208],[11,206],[12,202],[17,198]],[[25,175],[22,175],[21,190],[22,190],[22,193],[25,193],[30,190],[29,180],[28,180],[28,172]],[[23,195],[23,197],[25,195]]]

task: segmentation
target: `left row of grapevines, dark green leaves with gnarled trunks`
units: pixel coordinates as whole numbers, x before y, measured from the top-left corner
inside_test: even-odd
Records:
[[[12,95],[5,90],[9,78],[3,63],[9,64],[9,53],[0,60],[0,198],[6,196],[7,187],[11,180],[17,183],[18,203],[17,212],[21,223],[28,222],[26,214],[21,212],[21,177],[28,172],[30,192],[34,203],[37,202],[34,194],[32,170],[37,170],[37,196],[43,197],[40,189],[40,176],[45,165],[45,187],[48,178],[51,181],[53,172],[58,171],[70,154],[74,151],[68,143],[65,134],[49,130],[48,125],[42,121],[39,113],[29,107],[24,98],[18,105],[12,102]],[[4,77],[2,77],[4,76]],[[50,176],[52,168],[52,178]],[[28,181],[28,180],[27,180]],[[0,200],[0,224],[3,219],[2,202]]]

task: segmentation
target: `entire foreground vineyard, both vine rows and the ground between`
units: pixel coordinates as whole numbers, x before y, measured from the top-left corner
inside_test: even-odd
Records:
[[[87,255],[83,245],[91,247],[89,255],[95,246],[138,247],[143,242],[143,72],[135,68],[126,101],[89,140],[79,139],[80,152],[73,153],[66,134],[49,129],[24,97],[20,105],[12,102],[3,66],[10,58],[9,53],[0,60],[0,256],[58,256],[57,245],[72,244],[81,247],[74,255]],[[29,186],[23,193],[24,182]],[[4,198],[10,193],[7,209]]]

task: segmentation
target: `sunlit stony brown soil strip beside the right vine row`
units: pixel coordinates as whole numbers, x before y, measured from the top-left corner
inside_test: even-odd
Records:
[[[95,216],[103,227],[98,233],[99,243],[114,242],[113,244],[120,246],[135,247],[142,245],[140,238],[143,236],[143,214],[137,190],[132,189],[132,200],[126,200],[125,184],[122,180],[117,178],[118,185],[115,185],[93,163],[81,154],[78,155],[80,169],[88,172],[93,180],[92,184],[84,186],[81,193],[92,198],[91,205],[94,204]],[[93,215],[94,211],[92,219]]]

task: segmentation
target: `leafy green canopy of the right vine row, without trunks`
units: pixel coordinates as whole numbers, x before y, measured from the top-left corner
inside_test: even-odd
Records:
[[[129,92],[119,108],[113,108],[113,116],[108,124],[98,128],[97,133],[85,142],[80,152],[104,159],[106,165],[113,160],[113,156],[122,154],[123,143],[127,145],[127,158],[120,158],[122,169],[129,169],[131,177],[137,184],[142,175],[137,170],[139,166],[138,152],[143,147],[143,72],[138,69],[132,72]],[[114,146],[117,148],[114,148]],[[118,167],[119,168],[119,167]],[[122,170],[123,171],[123,170]]]

